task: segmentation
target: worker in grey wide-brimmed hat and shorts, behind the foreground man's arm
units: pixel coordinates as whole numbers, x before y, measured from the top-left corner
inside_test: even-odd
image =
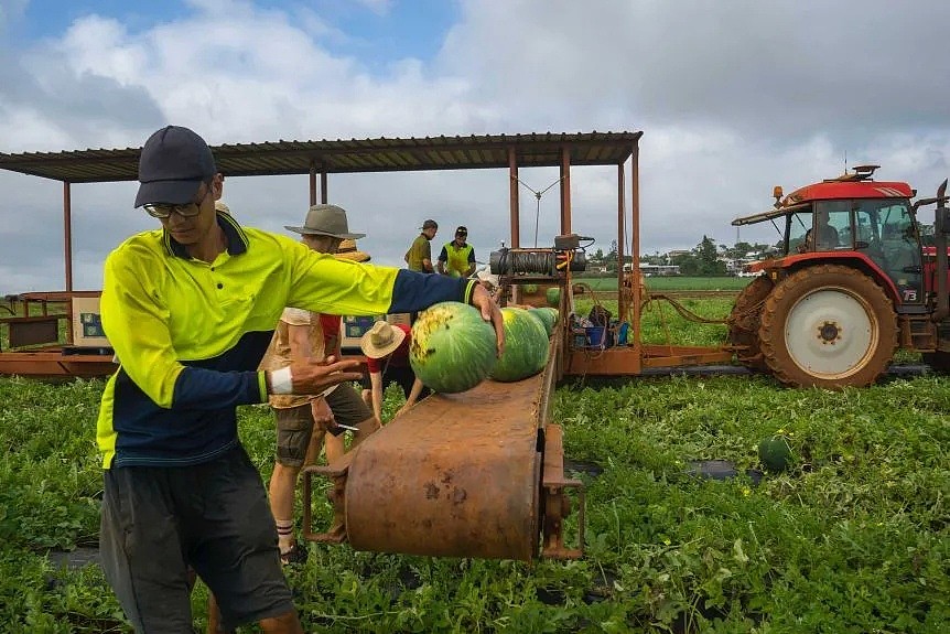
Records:
[[[365,234],[350,233],[346,212],[336,205],[314,205],[302,226],[285,228],[301,234],[302,241],[314,251],[356,261],[363,256],[369,258],[355,250],[354,240]],[[339,255],[344,240],[353,244],[354,250]],[[288,308],[261,367],[273,370],[289,366],[294,358],[328,357],[339,357],[339,316]],[[343,437],[337,431],[343,428],[337,423],[358,430],[353,438],[355,447],[379,429],[379,420],[350,384],[337,385],[317,396],[274,395],[270,405],[277,417],[277,463],[270,479],[270,506],[281,560],[299,563],[306,559],[306,550],[298,546],[293,534],[293,492],[300,470],[309,455],[315,460],[324,443],[327,462],[343,455]]]

